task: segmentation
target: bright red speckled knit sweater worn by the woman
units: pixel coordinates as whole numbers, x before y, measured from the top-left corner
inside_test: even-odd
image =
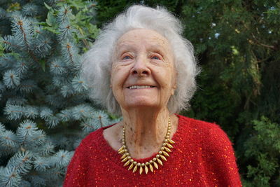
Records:
[[[67,169],[69,186],[241,186],[232,144],[218,125],[179,116],[172,153],[148,174],[123,167],[103,127],[80,143]],[[151,158],[136,160],[147,162]]]

